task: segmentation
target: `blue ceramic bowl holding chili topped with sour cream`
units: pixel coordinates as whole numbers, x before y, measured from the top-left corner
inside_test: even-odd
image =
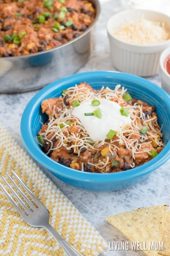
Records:
[[[35,139],[41,128],[40,116],[43,123],[47,120],[47,115],[41,113],[41,102],[48,98],[59,97],[63,89],[84,81],[94,89],[100,89],[103,85],[114,89],[117,84],[121,84],[128,89],[133,98],[155,105],[159,124],[163,124],[165,141],[165,147],[160,154],[144,165],[117,173],[81,172],[46,156]],[[32,157],[58,179],[88,190],[110,191],[126,188],[144,180],[170,157],[170,95],[144,78],[121,72],[95,71],[67,76],[49,84],[30,100],[22,116],[21,135]]]

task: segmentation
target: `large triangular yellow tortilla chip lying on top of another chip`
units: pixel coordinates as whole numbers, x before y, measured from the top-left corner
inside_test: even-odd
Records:
[[[161,242],[168,205],[138,208],[135,211],[106,217],[110,224],[131,241],[146,243],[146,255],[157,256],[158,251],[149,250],[149,242]],[[141,248],[140,248],[141,249]]]

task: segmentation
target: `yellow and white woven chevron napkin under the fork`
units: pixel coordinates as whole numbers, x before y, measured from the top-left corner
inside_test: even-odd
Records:
[[[49,211],[50,224],[84,256],[97,256],[107,244],[95,228],[41,171],[39,166],[0,125],[1,176],[13,169]],[[44,228],[25,223],[0,190],[0,255],[65,256],[66,253]]]

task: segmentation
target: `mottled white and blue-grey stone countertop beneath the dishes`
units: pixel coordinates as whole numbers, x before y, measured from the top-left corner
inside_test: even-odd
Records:
[[[115,70],[110,62],[109,42],[106,33],[106,22],[114,13],[121,10],[119,0],[102,4],[102,14],[97,23],[96,48],[89,62],[79,72],[92,70]],[[148,78],[160,86],[160,76]],[[0,123],[2,123],[15,140],[23,145],[20,135],[20,120],[24,108],[36,92],[0,95]],[[159,204],[170,204],[170,160],[152,172],[146,180],[130,188],[110,192],[94,192],[74,188],[58,180],[46,169],[44,172],[57,187],[71,200],[75,207],[89,220],[109,241],[122,241],[126,238],[108,224],[105,216],[135,210]],[[142,255],[143,252],[106,251],[106,255]],[[143,254],[144,255],[144,254]]]

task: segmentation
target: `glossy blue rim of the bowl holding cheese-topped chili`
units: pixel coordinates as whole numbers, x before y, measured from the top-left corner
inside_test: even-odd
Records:
[[[41,89],[35,96],[29,101],[27,104],[22,118],[21,118],[21,136],[23,142],[25,144],[26,149],[30,153],[30,155],[41,165],[47,168],[52,174],[54,173],[58,176],[62,176],[64,178],[76,181],[86,181],[88,183],[97,182],[101,183],[117,183],[120,181],[131,180],[148,174],[159,166],[164,164],[170,157],[170,140],[167,142],[165,148],[159,153],[156,158],[153,158],[149,162],[144,165],[138,166],[135,169],[130,169],[124,172],[114,172],[114,173],[93,173],[93,172],[82,172],[79,170],[74,170],[70,167],[64,166],[62,164],[57,163],[50,157],[46,156],[42,150],[38,147],[35,138],[32,136],[31,132],[31,119],[34,109],[41,103],[45,96],[49,93],[55,91],[60,88],[61,85],[67,85],[71,82],[74,82],[75,79],[83,79],[83,77],[91,78],[93,77],[119,77],[128,79],[128,81],[140,82],[142,86],[148,88],[148,86],[153,89],[154,92],[157,92],[161,95],[161,99],[166,101],[166,104],[170,108],[170,95],[161,89],[158,85],[153,84],[152,82],[131,74],[117,72],[117,71],[91,71],[78,73],[71,76],[67,76],[65,78],[61,78],[43,89]],[[59,170],[60,169],[60,170]]]

